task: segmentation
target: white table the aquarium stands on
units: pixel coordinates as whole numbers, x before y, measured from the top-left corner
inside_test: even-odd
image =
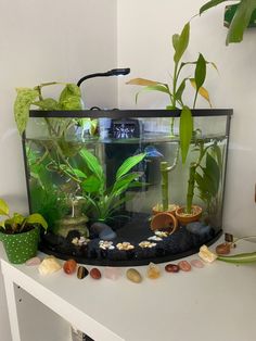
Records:
[[[256,264],[215,262],[179,274],[162,264],[161,278],[136,285],[126,268],[116,281],[78,280],[62,270],[43,277],[37,267],[8,263],[0,247],[13,341],[27,341],[20,336],[14,285],[97,341],[256,340]],[[255,250],[243,241],[236,252]],[[145,267],[138,269],[144,276]]]

